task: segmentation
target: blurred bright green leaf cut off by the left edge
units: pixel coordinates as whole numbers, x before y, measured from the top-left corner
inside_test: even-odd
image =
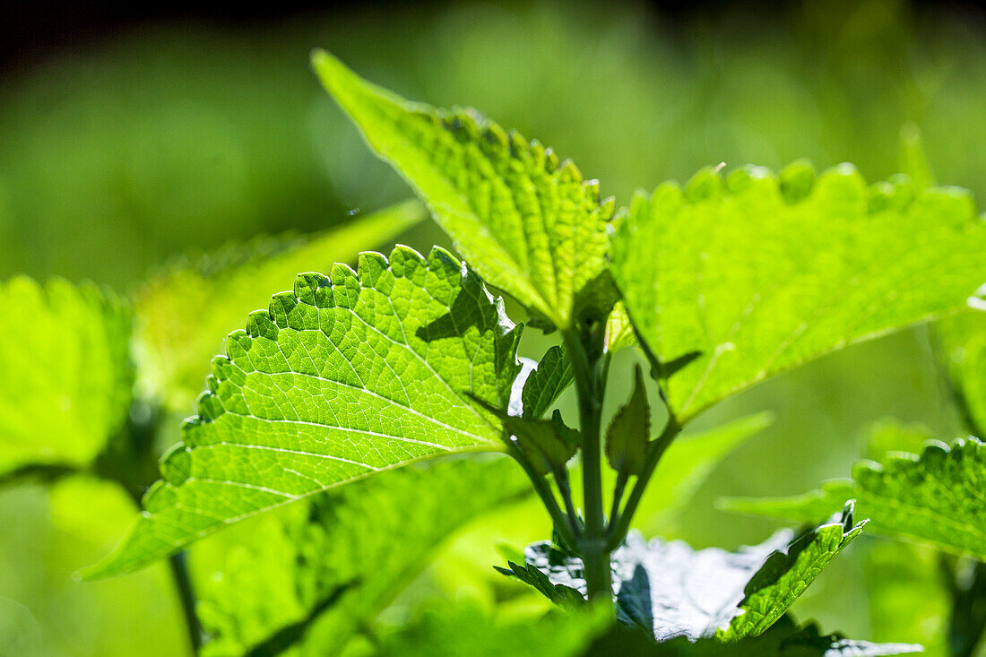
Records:
[[[92,284],[26,276],[0,283],[0,307],[0,473],[90,465],[130,407],[129,310]]]

